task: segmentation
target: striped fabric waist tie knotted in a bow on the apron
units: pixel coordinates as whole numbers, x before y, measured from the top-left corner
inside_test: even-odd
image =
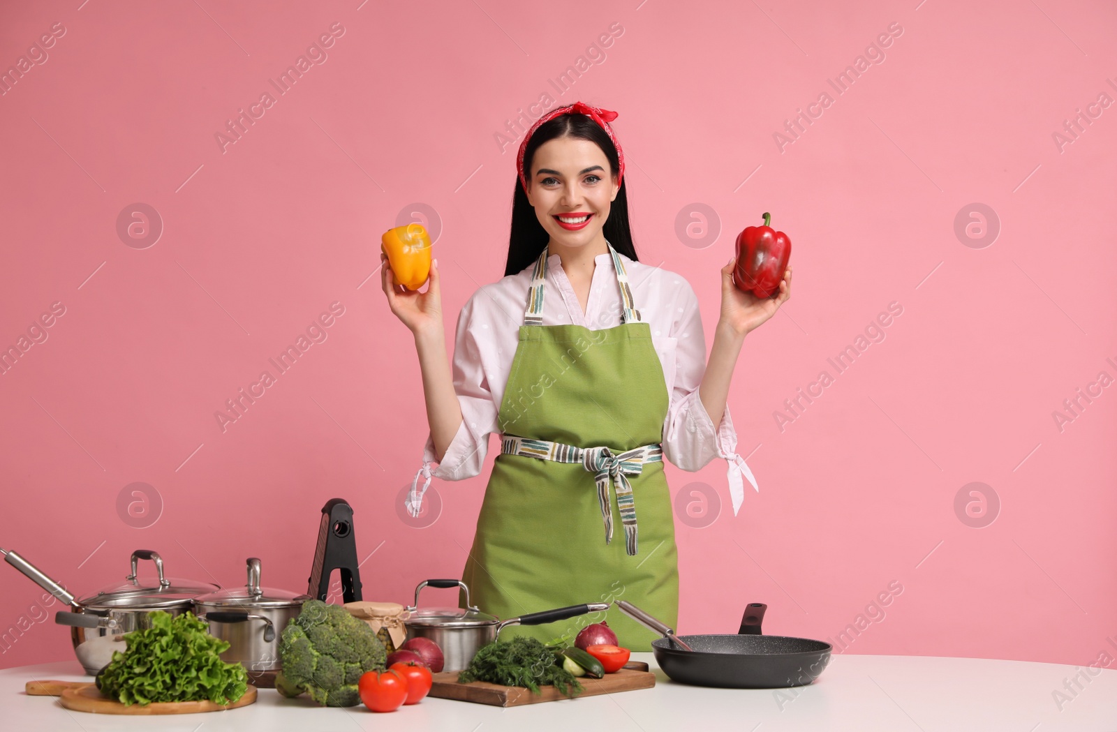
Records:
[[[515,435],[500,437],[500,452],[510,455],[524,455],[538,460],[552,460],[560,463],[581,463],[585,470],[594,473],[598,485],[598,502],[601,505],[601,518],[605,523],[605,543],[613,540],[613,513],[609,500],[610,484],[615,487],[617,508],[621,513],[621,524],[624,527],[624,550],[629,556],[637,552],[636,501],[632,497],[632,484],[628,475],[639,475],[645,463],[661,462],[663,449],[659,444],[643,445],[614,453],[609,447],[575,447],[561,442],[547,440],[528,440]]]

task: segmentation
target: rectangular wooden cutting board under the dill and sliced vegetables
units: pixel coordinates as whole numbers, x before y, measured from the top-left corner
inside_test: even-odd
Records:
[[[648,671],[648,664],[642,661],[630,661],[620,671],[605,674],[602,678],[579,678],[585,691],[575,700],[598,694],[629,692],[636,688],[651,688],[656,685],[656,674]],[[538,704],[540,702],[556,702],[569,699],[554,686],[540,686],[540,693],[533,694],[526,686],[502,686],[484,681],[468,684],[458,683],[458,672],[435,674],[435,683],[430,694],[438,699],[452,699],[459,702],[493,704],[494,706],[519,706],[522,704]]]

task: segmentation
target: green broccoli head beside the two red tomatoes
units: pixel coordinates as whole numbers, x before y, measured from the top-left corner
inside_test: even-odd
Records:
[[[306,600],[279,636],[276,688],[284,696],[305,692],[325,706],[355,706],[361,675],[383,671],[385,659],[384,644],[364,620],[340,605]]]

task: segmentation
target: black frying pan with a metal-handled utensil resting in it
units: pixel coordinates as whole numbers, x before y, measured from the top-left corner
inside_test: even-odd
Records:
[[[617,606],[638,623],[666,637],[651,642],[656,663],[671,681],[725,688],[782,688],[804,686],[819,677],[830,663],[829,643],[782,635],[762,635],[761,620],[767,605],[750,603],[737,635],[684,635],[675,632],[626,600]]]

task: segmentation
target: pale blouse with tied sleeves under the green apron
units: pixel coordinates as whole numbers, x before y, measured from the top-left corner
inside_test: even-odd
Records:
[[[737,433],[726,405],[717,430],[698,397],[706,370],[706,343],[698,298],[685,278],[620,254],[640,319],[649,324],[651,340],[663,367],[670,406],[663,421],[663,458],[686,471],[697,471],[714,458],[728,461],[729,497],[737,514],[744,500],[742,474],[760,491],[752,471],[736,454]],[[591,330],[621,324],[621,295],[612,257],[598,254],[585,314],[563,271],[558,254],[547,259],[543,325],[580,325]],[[416,474],[409,508],[418,514],[426,490],[416,490],[420,476],[445,480],[472,478],[481,471],[488,435],[498,432],[497,413],[504,398],[512,359],[519,343],[527,292],[535,264],[477,290],[462,306],[454,348],[454,388],[461,403],[461,426],[436,470],[435,441],[428,434],[423,464]],[[579,445],[591,447],[594,445]]]

